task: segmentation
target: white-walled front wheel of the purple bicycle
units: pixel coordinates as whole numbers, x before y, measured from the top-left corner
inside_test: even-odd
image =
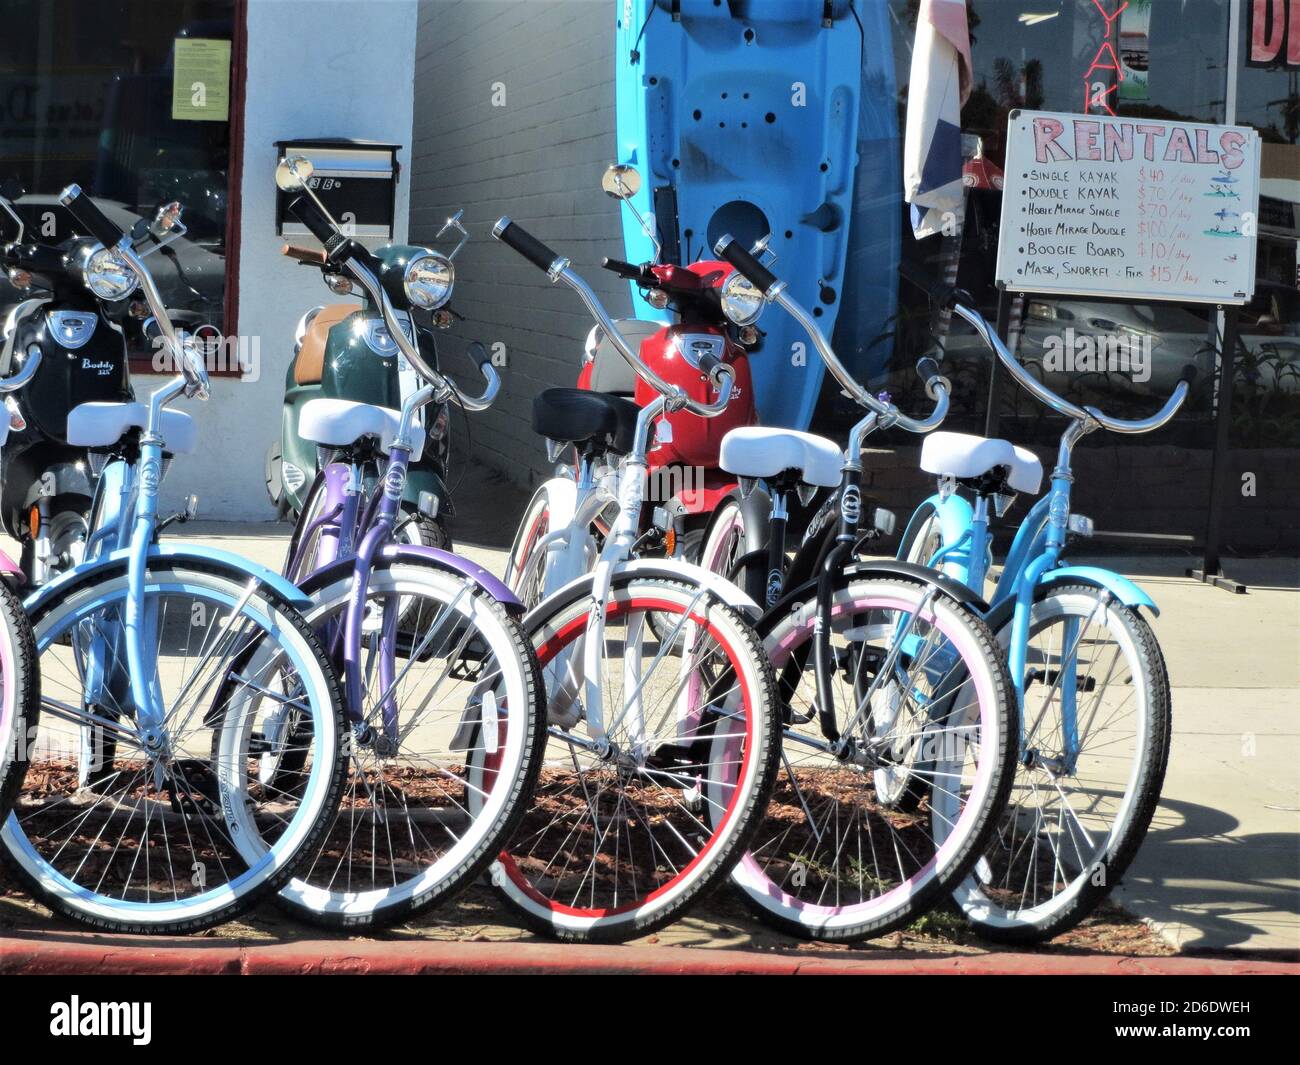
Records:
[[[308,622],[339,663],[351,586],[348,572],[304,588],[316,603]],[[343,801],[324,847],[280,893],[299,917],[351,927],[404,921],[484,871],[532,798],[546,713],[519,623],[446,570],[377,566],[359,650],[347,666],[361,706]]]

